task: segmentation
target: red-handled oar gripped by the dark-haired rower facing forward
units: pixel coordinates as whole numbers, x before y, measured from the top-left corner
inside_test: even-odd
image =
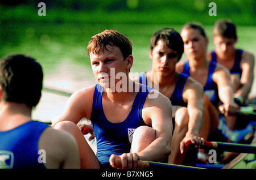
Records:
[[[188,140],[185,145],[189,148],[195,148],[195,145]],[[204,142],[201,145],[202,149],[219,149],[228,152],[238,152],[238,153],[254,153],[256,154],[256,146],[249,144],[238,144],[238,143],[222,143],[222,142]]]

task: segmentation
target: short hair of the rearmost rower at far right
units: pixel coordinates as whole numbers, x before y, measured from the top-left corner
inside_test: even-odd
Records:
[[[220,19],[213,25],[213,36],[237,39],[236,25],[231,20]]]

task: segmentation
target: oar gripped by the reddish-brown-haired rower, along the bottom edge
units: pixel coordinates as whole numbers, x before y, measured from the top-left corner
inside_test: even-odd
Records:
[[[112,165],[113,168],[121,168],[121,160],[119,158],[115,158],[115,163]],[[176,165],[176,164],[167,164],[167,163],[162,163],[162,162],[152,162],[152,161],[138,161],[138,166],[141,168],[152,168],[152,169],[157,169],[157,168],[171,168],[171,169],[204,169],[204,168],[197,168],[193,166],[184,166],[184,165]]]

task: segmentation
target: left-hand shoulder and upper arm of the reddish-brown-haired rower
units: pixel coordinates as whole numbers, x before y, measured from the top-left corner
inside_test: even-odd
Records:
[[[52,123],[52,127],[55,127],[56,123],[61,121],[71,121],[77,124],[84,117],[90,119],[93,104],[93,92],[94,86],[80,89],[73,93],[65,105],[63,114]]]

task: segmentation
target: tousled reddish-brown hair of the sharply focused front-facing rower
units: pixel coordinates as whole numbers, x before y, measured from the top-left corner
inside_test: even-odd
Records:
[[[123,59],[129,57],[133,50],[132,41],[125,35],[115,30],[105,30],[90,38],[87,46],[88,55],[90,56],[90,53],[99,54],[104,52],[105,49],[108,50],[108,45],[117,46],[123,54]]]

